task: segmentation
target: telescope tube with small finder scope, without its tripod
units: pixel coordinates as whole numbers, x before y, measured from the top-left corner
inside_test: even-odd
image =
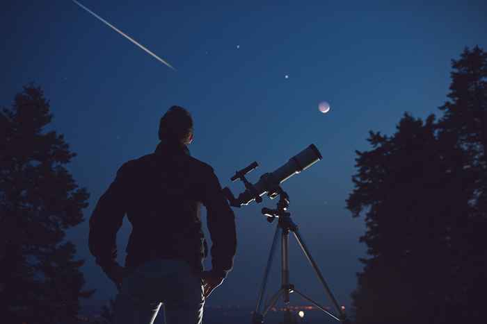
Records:
[[[237,198],[234,197],[230,188],[225,187],[223,189],[223,194],[227,198],[228,202],[233,207],[241,207],[242,205],[248,205],[252,201],[256,203],[262,202],[262,196],[267,194],[269,198],[273,199],[276,198],[279,194],[280,187],[279,185],[282,182],[285,182],[287,179],[291,178],[297,173],[304,171],[311,167],[314,163],[321,160],[321,153],[319,153],[318,148],[311,144],[307,148],[305,148],[300,153],[291,157],[289,161],[287,161],[282,167],[276,169],[276,171],[270,173],[264,173],[260,180],[252,185],[248,180],[245,178],[246,174],[250,171],[256,169],[259,164],[257,162],[253,162],[248,167],[237,171],[230,180],[232,182],[241,180],[244,182],[246,190],[239,194]]]

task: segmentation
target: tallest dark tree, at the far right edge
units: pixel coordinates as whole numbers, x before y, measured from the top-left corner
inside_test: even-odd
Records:
[[[479,310],[483,301],[473,296],[484,293],[487,281],[487,53],[479,46],[467,48],[460,59],[452,60],[452,67],[449,100],[440,107],[445,114],[439,135],[453,139],[468,155],[463,168],[470,169],[473,187],[468,214],[452,237],[458,264],[454,284],[462,307]]]

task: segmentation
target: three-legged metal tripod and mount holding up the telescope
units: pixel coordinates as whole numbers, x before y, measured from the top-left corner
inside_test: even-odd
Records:
[[[278,225],[276,227],[276,232],[274,234],[274,239],[272,241],[271,252],[269,253],[269,259],[267,261],[266,269],[264,272],[264,278],[262,280],[262,285],[260,287],[259,297],[257,299],[257,307],[255,307],[255,312],[253,313],[252,323],[253,324],[264,323],[264,316],[266,316],[267,312],[269,312],[269,310],[272,307],[274,307],[274,305],[276,305],[276,303],[278,302],[281,296],[284,298],[285,308],[287,309],[286,314],[287,317],[289,318],[289,308],[288,308],[289,295],[293,292],[297,293],[304,300],[308,300],[308,302],[311,302],[315,307],[325,312],[335,320],[340,321],[342,323],[347,323],[346,314],[343,312],[343,309],[341,309],[340,306],[338,305],[337,300],[335,300],[333,293],[331,293],[328,284],[326,284],[323,278],[323,275],[321,275],[321,271],[319,270],[316,262],[314,262],[314,259],[312,258],[310,251],[305,246],[303,237],[301,237],[301,234],[299,234],[298,225],[296,225],[292,221],[291,214],[287,212],[287,207],[289,207],[289,196],[284,190],[282,190],[281,187],[277,188],[276,194],[279,194],[280,196],[277,209],[271,210],[269,208],[262,208],[262,214],[267,216],[267,221],[272,223],[275,219],[278,219]],[[328,312],[323,306],[319,305],[317,302],[315,302],[308,296],[305,296],[303,293],[301,293],[301,291],[298,291],[297,289],[294,288],[294,284],[291,284],[289,282],[289,256],[288,256],[289,232],[292,232],[294,234],[294,237],[296,237],[296,240],[298,241],[301,250],[303,250],[303,253],[308,258],[308,261],[310,262],[312,268],[314,269],[314,272],[317,274],[319,282],[323,284],[325,292],[327,293],[330,300],[333,302],[333,305],[337,309],[338,314],[340,314],[339,317]],[[282,276],[281,287],[272,296],[271,300],[269,301],[269,305],[266,305],[262,311],[262,302],[264,298],[264,293],[266,291],[267,279],[269,278],[269,272],[271,270],[274,254],[276,253],[276,246],[278,244],[279,237],[281,241],[281,276]],[[285,318],[287,318],[286,314],[285,314]]]

